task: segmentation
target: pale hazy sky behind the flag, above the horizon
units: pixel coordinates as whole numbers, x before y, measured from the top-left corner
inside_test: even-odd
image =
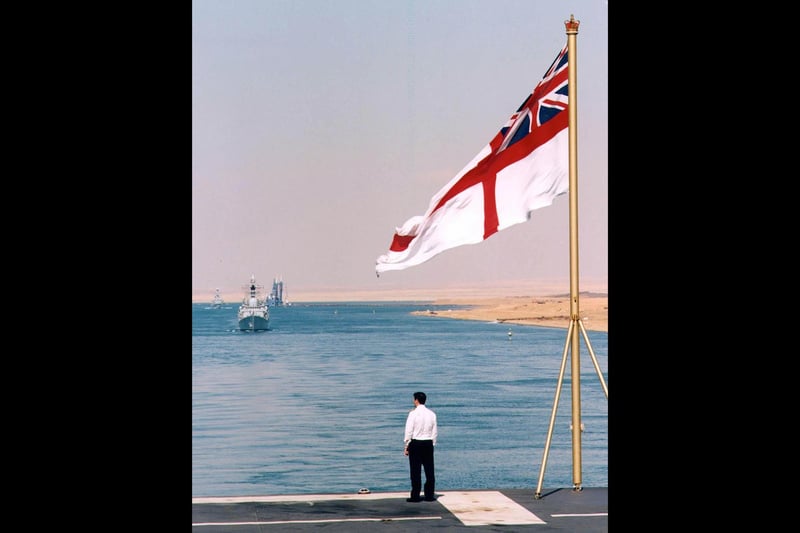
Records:
[[[530,94],[571,14],[580,289],[605,290],[607,0],[193,0],[193,299],[238,299],[251,274],[298,301],[569,292],[568,195],[419,266],[375,259]]]

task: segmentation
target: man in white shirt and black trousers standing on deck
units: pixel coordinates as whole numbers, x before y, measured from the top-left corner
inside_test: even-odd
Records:
[[[414,409],[406,419],[405,451],[411,470],[411,497],[407,502],[421,502],[422,469],[425,469],[425,501],[436,500],[436,475],[433,471],[433,447],[436,446],[438,428],[436,413],[425,407],[424,392],[414,393]]]

